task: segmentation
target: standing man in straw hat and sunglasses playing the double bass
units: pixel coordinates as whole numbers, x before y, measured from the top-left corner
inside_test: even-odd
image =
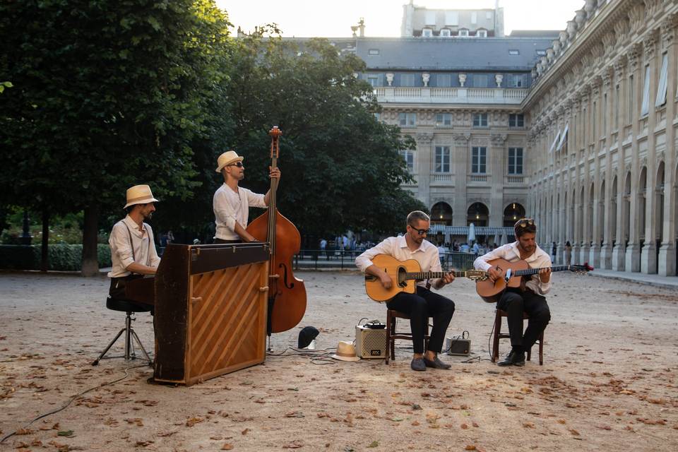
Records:
[[[266,195],[256,194],[238,186],[245,177],[244,157],[229,150],[219,156],[216,172],[224,177],[224,183],[215,191],[212,201],[216,232],[215,243],[253,242],[256,240],[245,229],[249,218],[249,207],[267,208],[270,190]],[[270,171],[271,178],[280,179],[280,169]]]

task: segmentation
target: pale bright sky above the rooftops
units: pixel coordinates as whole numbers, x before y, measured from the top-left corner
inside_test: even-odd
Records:
[[[350,37],[351,25],[365,20],[369,37],[400,36],[403,4],[408,0],[216,0],[234,30],[277,23],[285,37]],[[427,8],[494,8],[494,0],[415,0]],[[504,32],[564,30],[584,0],[499,0]]]

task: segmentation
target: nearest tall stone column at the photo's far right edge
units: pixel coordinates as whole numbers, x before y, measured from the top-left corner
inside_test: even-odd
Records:
[[[673,102],[674,95],[678,88],[677,62],[678,46],[674,44],[678,16],[673,15],[662,23],[662,46],[665,47],[668,55],[668,78],[666,92],[666,117],[668,119],[676,117],[676,108]],[[664,206],[658,208],[664,209],[664,234],[662,246],[659,249],[659,266],[657,273],[662,276],[676,274],[676,133],[673,127],[666,128],[666,160],[664,162]]]

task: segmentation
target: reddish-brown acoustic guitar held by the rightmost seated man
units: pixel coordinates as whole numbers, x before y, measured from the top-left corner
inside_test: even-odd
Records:
[[[492,281],[492,279],[487,278],[486,280],[476,281],[476,292],[478,292],[478,295],[488,303],[499,301],[499,298],[501,297],[501,294],[504,293],[504,290],[506,290],[506,287],[521,287],[521,279],[523,276],[536,275],[542,268],[548,268],[530,268],[526,261],[509,262],[504,259],[494,259],[492,261],[487,261],[487,263],[493,267],[498,267],[499,270],[506,270],[506,279],[499,278],[496,281]],[[589,266],[588,262],[584,263],[582,266],[571,265],[551,267],[552,272],[565,270],[582,275],[583,273],[593,270],[593,267]]]

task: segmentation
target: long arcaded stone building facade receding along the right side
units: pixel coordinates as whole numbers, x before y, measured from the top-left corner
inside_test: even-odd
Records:
[[[533,68],[528,213],[573,262],[675,275],[678,2],[587,0]]]

